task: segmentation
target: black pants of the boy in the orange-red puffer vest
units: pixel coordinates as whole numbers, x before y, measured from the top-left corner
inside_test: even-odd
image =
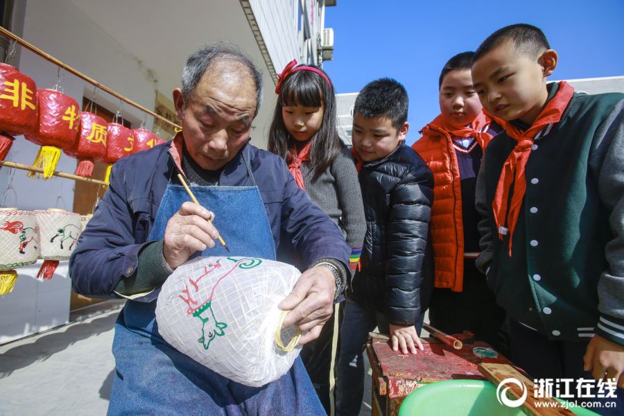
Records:
[[[492,345],[503,356],[510,356],[507,313],[496,304],[487,279],[474,259],[464,259],[464,284],[461,292],[434,288],[429,304],[431,326],[449,335],[470,331],[475,339]]]

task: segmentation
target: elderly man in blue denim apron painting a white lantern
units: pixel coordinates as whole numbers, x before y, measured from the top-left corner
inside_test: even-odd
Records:
[[[351,251],[284,161],[249,144],[262,78],[245,54],[227,44],[193,53],[173,99],[182,132],[113,166],[70,260],[76,292],[128,298],[115,326],[109,415],[324,415],[298,358],[281,379],[250,388],[159,336],[157,295],[177,266],[200,255],[275,259],[277,248],[288,248],[308,270],[279,306],[292,309],[284,325],[309,331],[300,343],[309,342],[345,287]],[[211,211],[184,202],[179,173]],[[215,244],[220,233],[231,253]]]

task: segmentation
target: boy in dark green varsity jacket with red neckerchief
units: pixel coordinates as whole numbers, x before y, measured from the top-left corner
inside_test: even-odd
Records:
[[[563,398],[615,401],[592,410],[621,415],[624,94],[547,84],[557,61],[528,24],[494,32],[474,55],[474,89],[505,127],[487,146],[477,187],[490,241],[478,264],[512,320],[514,363],[561,392],[561,379],[573,379]],[[602,398],[578,388],[591,376]]]

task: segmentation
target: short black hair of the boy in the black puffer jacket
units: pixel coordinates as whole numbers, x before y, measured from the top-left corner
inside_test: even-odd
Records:
[[[381,78],[362,89],[356,98],[353,113],[361,114],[365,119],[388,117],[398,132],[407,121],[408,105],[405,87],[392,78]]]

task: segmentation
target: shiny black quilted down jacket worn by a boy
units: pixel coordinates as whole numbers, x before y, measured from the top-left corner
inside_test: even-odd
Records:
[[[387,157],[360,171],[366,236],[361,268],[348,292],[392,324],[415,324],[433,290],[428,223],[433,173],[415,150],[399,142]]]

